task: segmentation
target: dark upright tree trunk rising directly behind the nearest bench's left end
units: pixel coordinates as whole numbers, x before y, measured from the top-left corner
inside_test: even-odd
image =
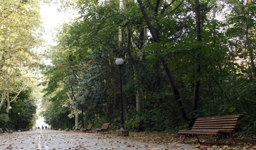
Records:
[[[196,42],[201,42],[202,37],[201,37],[201,20],[200,20],[200,5],[199,5],[199,0],[194,0],[194,6],[195,6],[195,28],[196,28]],[[198,47],[198,51],[195,54],[196,60],[200,59],[200,50],[201,47]],[[195,69],[195,75],[199,75],[201,69],[201,64],[200,61],[198,61],[197,68]],[[199,86],[200,86],[200,81],[195,81],[194,82],[194,94],[193,94],[193,102],[192,102],[192,111],[193,111],[193,116],[190,121],[189,127],[192,127],[192,125],[195,122],[196,119],[196,110],[197,110],[197,103],[199,99]]]

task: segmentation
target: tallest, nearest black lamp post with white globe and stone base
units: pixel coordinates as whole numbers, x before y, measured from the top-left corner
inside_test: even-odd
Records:
[[[122,93],[122,75],[121,75],[121,68],[123,63],[124,63],[124,60],[122,58],[116,58],[116,64],[119,68],[120,120],[121,120],[121,126],[120,126],[120,130],[117,130],[117,136],[122,136],[122,135],[129,136],[129,131],[124,130],[123,93]]]

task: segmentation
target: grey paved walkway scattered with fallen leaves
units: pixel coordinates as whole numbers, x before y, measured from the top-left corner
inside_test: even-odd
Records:
[[[0,150],[117,150],[117,149],[193,149],[188,144],[158,145],[146,142],[125,140],[112,134],[79,133],[55,130],[32,130],[0,135]]]

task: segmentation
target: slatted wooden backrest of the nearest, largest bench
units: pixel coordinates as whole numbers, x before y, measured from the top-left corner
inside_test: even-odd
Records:
[[[222,130],[234,131],[237,127],[238,120],[245,115],[229,115],[217,117],[197,118],[192,130]]]

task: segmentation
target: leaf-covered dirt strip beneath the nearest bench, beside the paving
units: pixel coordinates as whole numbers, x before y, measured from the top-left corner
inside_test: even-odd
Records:
[[[177,148],[184,146],[184,137],[180,135],[130,133],[130,136],[123,136],[120,138],[166,145],[167,149],[173,149],[173,147],[168,148],[168,145],[171,144],[175,145]],[[239,142],[237,142],[237,144],[235,145],[232,139],[222,139],[220,140],[219,145],[216,146],[214,145],[216,143],[215,138],[199,137],[199,139],[201,140],[201,143],[198,143],[196,138],[187,138],[185,140],[185,143],[192,145],[192,147],[194,147],[194,150],[256,150],[256,145],[249,143],[248,140],[242,140],[243,142],[240,142],[241,139],[237,140]],[[184,150],[186,149],[189,150],[191,148],[185,148]]]

